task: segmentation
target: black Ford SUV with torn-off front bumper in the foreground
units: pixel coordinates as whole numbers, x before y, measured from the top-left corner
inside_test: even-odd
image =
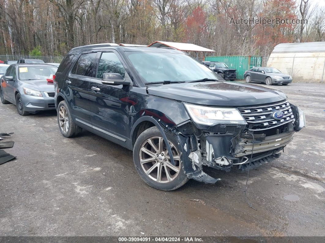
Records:
[[[283,92],[220,80],[174,49],[76,47],[54,87],[64,137],[84,128],[133,150],[138,174],[161,190],[189,178],[219,180],[202,165],[246,170],[278,158],[305,126],[304,113]]]

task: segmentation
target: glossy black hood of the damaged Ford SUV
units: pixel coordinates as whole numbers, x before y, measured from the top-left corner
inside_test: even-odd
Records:
[[[151,95],[217,106],[248,106],[279,102],[287,96],[279,90],[237,82],[197,82],[149,87]]]

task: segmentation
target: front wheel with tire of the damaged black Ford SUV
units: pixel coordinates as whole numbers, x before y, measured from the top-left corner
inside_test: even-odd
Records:
[[[139,176],[151,187],[170,191],[183,186],[188,177],[185,175],[177,140],[172,133],[166,133],[172,148],[175,166],[170,163],[166,144],[157,127],[151,127],[136,139],[133,161]]]

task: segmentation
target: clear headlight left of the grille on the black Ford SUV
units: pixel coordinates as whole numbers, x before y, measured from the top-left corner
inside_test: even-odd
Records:
[[[184,104],[194,122],[203,125],[246,124],[245,119],[235,108],[207,107]]]

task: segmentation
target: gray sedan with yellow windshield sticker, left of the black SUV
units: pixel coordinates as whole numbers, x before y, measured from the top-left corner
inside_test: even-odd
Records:
[[[53,75],[57,69],[48,64],[12,64],[0,79],[1,102],[15,104],[19,115],[54,110]]]

